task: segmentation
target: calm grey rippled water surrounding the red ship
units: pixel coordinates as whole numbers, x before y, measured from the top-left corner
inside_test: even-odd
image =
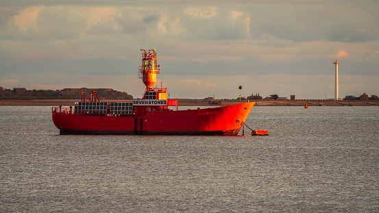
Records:
[[[379,211],[379,107],[256,106],[269,136],[60,136],[50,111],[0,107],[0,212]]]

